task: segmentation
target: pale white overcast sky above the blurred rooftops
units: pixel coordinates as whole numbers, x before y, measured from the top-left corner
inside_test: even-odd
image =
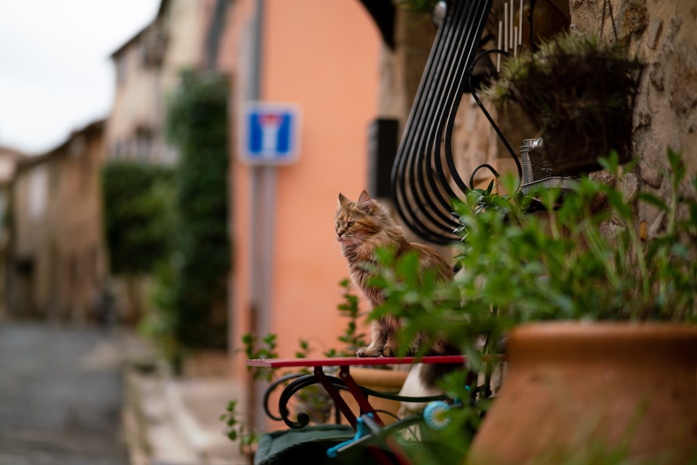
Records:
[[[107,116],[110,55],[160,0],[0,0],[0,145],[29,154]]]

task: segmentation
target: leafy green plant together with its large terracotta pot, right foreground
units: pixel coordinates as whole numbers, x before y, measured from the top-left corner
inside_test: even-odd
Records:
[[[389,297],[374,313],[401,315],[406,340],[445,335],[490,373],[483,356],[507,337],[491,409],[491,400],[466,404],[443,432],[463,443],[464,424],[478,429],[468,463],[684,464],[697,455],[697,178],[685,182],[679,154],[669,150],[668,161],[667,201],[627,198],[631,167],[616,154],[600,161],[615,185],[581,178],[567,192],[470,192],[455,207],[461,271],[445,288],[414,289],[406,262],[382,260]],[[514,192],[514,180],[503,182]],[[665,215],[663,231],[643,234],[640,206]],[[477,387],[463,374],[443,386],[457,399]]]

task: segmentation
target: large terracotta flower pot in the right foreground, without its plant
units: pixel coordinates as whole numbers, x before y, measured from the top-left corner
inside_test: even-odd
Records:
[[[535,323],[508,360],[469,465],[697,463],[697,327]]]

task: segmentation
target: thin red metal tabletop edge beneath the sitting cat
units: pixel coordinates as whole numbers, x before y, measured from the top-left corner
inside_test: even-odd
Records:
[[[501,358],[501,356],[499,356]],[[486,360],[486,358],[483,358]],[[341,367],[346,365],[405,365],[412,363],[467,363],[466,356],[423,357],[332,357],[332,358],[255,358],[247,360],[249,367]]]

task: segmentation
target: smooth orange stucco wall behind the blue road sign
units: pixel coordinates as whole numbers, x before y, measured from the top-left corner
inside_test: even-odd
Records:
[[[293,102],[302,119],[298,162],[276,174],[268,328],[278,335],[281,356],[293,356],[300,338],[319,356],[337,346],[345,325],[337,304],[348,271],[334,213],[339,191],[355,198],[365,188],[367,128],[378,116],[380,39],[356,0],[266,0],[263,31],[261,100]],[[238,38],[238,49],[244,42]],[[228,45],[227,53],[234,49]],[[243,74],[233,73],[238,84]],[[238,344],[250,329],[250,234],[261,231],[250,228],[250,169],[236,155],[233,160],[231,337]]]

